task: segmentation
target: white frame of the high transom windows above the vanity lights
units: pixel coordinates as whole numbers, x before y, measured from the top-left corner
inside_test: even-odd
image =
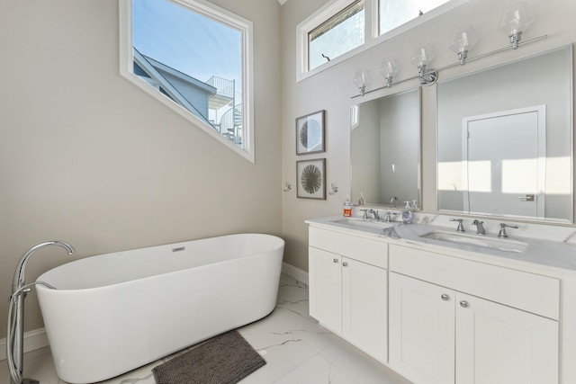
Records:
[[[370,49],[385,40],[390,40],[395,36],[400,35],[405,31],[419,26],[424,22],[428,22],[437,16],[447,13],[460,5],[466,4],[471,0],[450,0],[445,4],[438,6],[422,16],[405,22],[399,27],[394,28],[392,31],[384,32],[380,35],[379,31],[379,1],[378,0],[365,0],[365,38],[364,44],[351,49],[338,58],[332,58],[329,62],[309,69],[309,47],[308,47],[308,34],[320,26],[322,23],[327,22],[331,17],[340,13],[342,10],[354,4],[356,0],[331,0],[329,3],[322,6],[318,11],[312,13],[303,22],[296,26],[296,82],[301,82],[308,77],[319,74],[320,72],[334,67],[348,58],[353,58],[366,49]]]

